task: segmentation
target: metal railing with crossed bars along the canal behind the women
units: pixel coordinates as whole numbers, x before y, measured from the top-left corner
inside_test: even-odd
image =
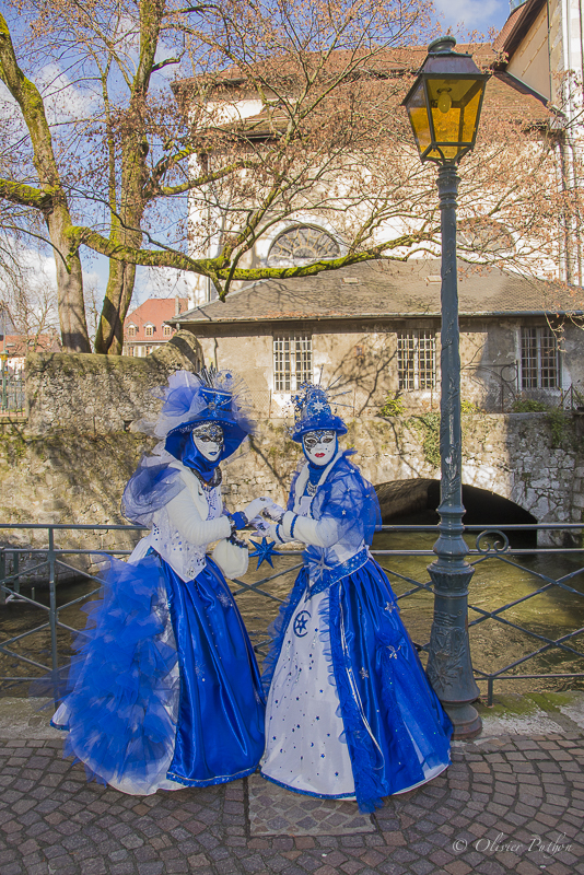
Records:
[[[71,564],[73,557],[84,558],[100,552],[127,556],[124,549],[107,549],[114,533],[138,538],[138,526],[72,525],[0,525],[0,529],[46,532],[40,548],[4,546],[0,548],[0,596],[4,622],[0,631],[0,681],[3,687],[49,678],[55,699],[67,676],[71,635],[84,628],[79,607],[100,591],[98,573],[90,573]],[[469,634],[475,676],[492,704],[494,686],[504,681],[525,684],[536,679],[546,685],[579,685],[584,680],[584,548],[537,547],[538,536],[564,538],[581,542],[584,525],[505,525],[504,532],[484,526],[468,526],[472,538],[468,561],[475,568],[469,595]],[[100,533],[104,549],[72,549],[58,546],[70,533]],[[511,546],[509,537],[532,537],[528,546]],[[13,536],[14,537],[14,536]],[[431,544],[435,526],[384,526],[387,548],[372,550],[385,568],[396,593],[406,626],[420,655],[429,646],[433,592],[425,571],[434,555]],[[408,540],[409,539],[409,540]],[[411,546],[416,540],[419,549]],[[392,541],[395,541],[393,544]],[[5,539],[4,539],[5,544]],[[105,555],[105,556],[104,556]],[[264,576],[252,570],[233,581],[233,592],[248,627],[254,648],[261,660],[269,637],[267,627],[291,588],[302,564],[300,550],[282,552],[273,573]],[[250,562],[253,565],[253,560]],[[560,573],[561,572],[561,573]],[[70,592],[70,583],[59,582],[59,574],[69,574],[79,587]],[[494,586],[492,585],[493,581]],[[513,597],[504,600],[509,586]],[[74,590],[74,586],[73,586]],[[66,592],[65,599],[61,593]],[[13,607],[21,612],[21,626],[11,621]],[[71,620],[74,617],[74,622]],[[487,629],[488,627],[488,629]],[[9,669],[19,670],[9,670]]]

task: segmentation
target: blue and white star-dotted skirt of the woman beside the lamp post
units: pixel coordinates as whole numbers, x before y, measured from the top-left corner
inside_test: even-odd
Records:
[[[308,583],[303,569],[272,629],[261,774],[371,812],[447,767],[452,724],[376,562]]]

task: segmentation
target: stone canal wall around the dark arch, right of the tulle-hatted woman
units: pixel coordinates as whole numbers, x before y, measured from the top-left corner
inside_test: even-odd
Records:
[[[463,483],[514,502],[538,523],[582,522],[581,422],[584,418],[579,415],[463,415]],[[349,422],[342,443],[358,451],[354,460],[375,486],[399,481],[406,490],[410,483],[414,492],[417,481],[440,479],[437,430],[435,415],[365,418]],[[240,506],[258,494],[283,502],[300,458],[300,448],[284,425],[262,420],[250,450],[225,468],[227,503]],[[384,492],[390,502],[393,493]],[[382,510],[389,518],[395,514],[387,502],[382,500]],[[540,540],[546,542],[546,538]]]

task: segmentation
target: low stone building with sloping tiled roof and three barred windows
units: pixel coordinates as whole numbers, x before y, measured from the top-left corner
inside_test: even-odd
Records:
[[[370,261],[317,277],[265,280],[171,324],[206,363],[245,373],[259,416],[279,418],[305,380],[338,378],[349,416],[440,404],[440,260]],[[463,399],[488,412],[518,400],[584,396],[584,314],[562,290],[498,269],[459,266]],[[584,401],[582,401],[584,404]]]

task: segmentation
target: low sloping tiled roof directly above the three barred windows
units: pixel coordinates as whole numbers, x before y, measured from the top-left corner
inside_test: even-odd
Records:
[[[366,261],[353,267],[288,280],[261,280],[183,314],[182,327],[244,322],[440,314],[440,259],[406,264]],[[504,273],[497,268],[459,266],[460,315],[582,312],[560,285]],[[173,322],[175,322],[173,319]]]

